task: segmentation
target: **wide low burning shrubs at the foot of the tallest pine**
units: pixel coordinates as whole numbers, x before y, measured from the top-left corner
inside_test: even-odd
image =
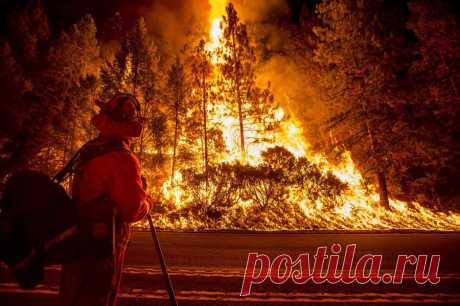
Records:
[[[170,214],[171,222],[193,219],[200,228],[305,228],[301,201],[332,208],[346,188],[283,147],[263,152],[257,166],[222,163],[208,174],[195,168],[181,173],[186,205]]]

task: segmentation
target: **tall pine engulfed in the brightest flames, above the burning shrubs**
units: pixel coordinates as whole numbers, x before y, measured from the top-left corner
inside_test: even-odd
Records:
[[[256,85],[256,57],[246,25],[240,22],[232,3],[227,5],[226,13],[222,25],[222,47],[217,49],[221,59],[218,65],[223,76],[219,85],[221,96],[233,106],[233,112],[238,117],[241,160],[246,162],[249,139],[247,132],[270,132],[275,123],[275,105],[270,85],[265,89]]]

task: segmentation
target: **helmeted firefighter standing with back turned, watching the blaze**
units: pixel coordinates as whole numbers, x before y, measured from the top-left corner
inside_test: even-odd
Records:
[[[101,110],[92,124],[100,134],[88,146],[97,153],[86,154],[90,158],[77,167],[72,186],[82,223],[90,225],[87,240],[97,242],[89,243],[76,261],[63,264],[62,306],[115,305],[130,223],[143,219],[151,207],[139,161],[130,151],[132,139],[142,131],[139,103],[131,95],[119,94],[98,106]],[[101,241],[109,243],[112,252],[98,251],[99,245],[107,245]]]

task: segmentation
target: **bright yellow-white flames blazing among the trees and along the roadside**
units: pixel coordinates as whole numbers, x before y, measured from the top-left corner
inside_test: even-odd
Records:
[[[210,1],[211,12],[209,16],[210,32],[206,44],[208,51],[213,52],[220,47],[222,36],[222,16],[225,14],[226,0]],[[218,63],[217,58],[212,59]],[[217,69],[215,69],[217,70]],[[215,71],[215,73],[218,73]],[[217,103],[210,114],[210,120],[218,120],[222,123],[222,133],[228,154],[221,162],[233,162],[240,159],[238,146],[238,118],[228,115],[225,101]],[[280,107],[275,114],[276,120],[281,121],[281,127],[274,133],[271,142],[260,142],[248,146],[247,162],[252,165],[261,163],[261,153],[274,146],[282,146],[296,157],[306,157],[312,163],[318,165],[324,172],[332,172],[339,180],[347,183],[349,188],[342,194],[339,203],[333,210],[326,210],[320,199],[311,202],[302,198],[302,193],[296,190],[290,191],[290,200],[298,203],[305,217],[305,223],[323,229],[422,229],[422,230],[458,230],[460,229],[460,215],[454,213],[434,212],[424,208],[418,203],[408,203],[391,199],[392,210],[387,210],[379,205],[379,195],[375,190],[364,188],[363,177],[356,169],[349,152],[344,154],[340,165],[332,165],[326,157],[314,154],[309,148],[303,135],[302,125],[292,114],[286,116]],[[257,133],[251,131],[250,133]],[[257,136],[249,134],[248,137]],[[176,173],[176,184],[171,186],[167,182],[163,186],[165,199],[175,203],[177,207],[185,205],[189,201],[188,195],[180,187],[182,176]],[[247,207],[247,203],[241,203]],[[279,216],[284,218],[285,216]],[[164,224],[166,227],[194,228],[198,226],[193,220],[180,218],[175,224]]]

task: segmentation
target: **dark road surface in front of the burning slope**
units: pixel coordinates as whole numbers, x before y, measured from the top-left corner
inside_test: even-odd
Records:
[[[179,304],[182,305],[460,305],[460,233],[173,233],[159,234]],[[398,254],[440,254],[437,285],[294,285],[265,282],[250,297],[239,296],[248,252],[273,259],[287,253],[314,253],[318,246],[357,244],[357,255],[384,255],[392,271]],[[155,249],[148,232],[136,232],[127,254],[120,305],[168,305]],[[59,268],[46,282],[19,290],[8,271],[0,271],[0,305],[57,305]]]

